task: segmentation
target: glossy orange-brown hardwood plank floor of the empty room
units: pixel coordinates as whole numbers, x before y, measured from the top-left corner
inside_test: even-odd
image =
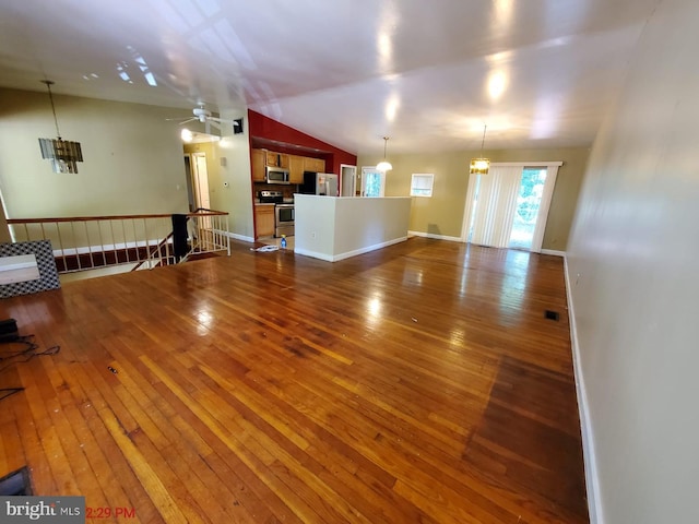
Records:
[[[236,243],[0,313],[60,345],[0,371],[0,477],[94,522],[588,522],[559,258]]]

